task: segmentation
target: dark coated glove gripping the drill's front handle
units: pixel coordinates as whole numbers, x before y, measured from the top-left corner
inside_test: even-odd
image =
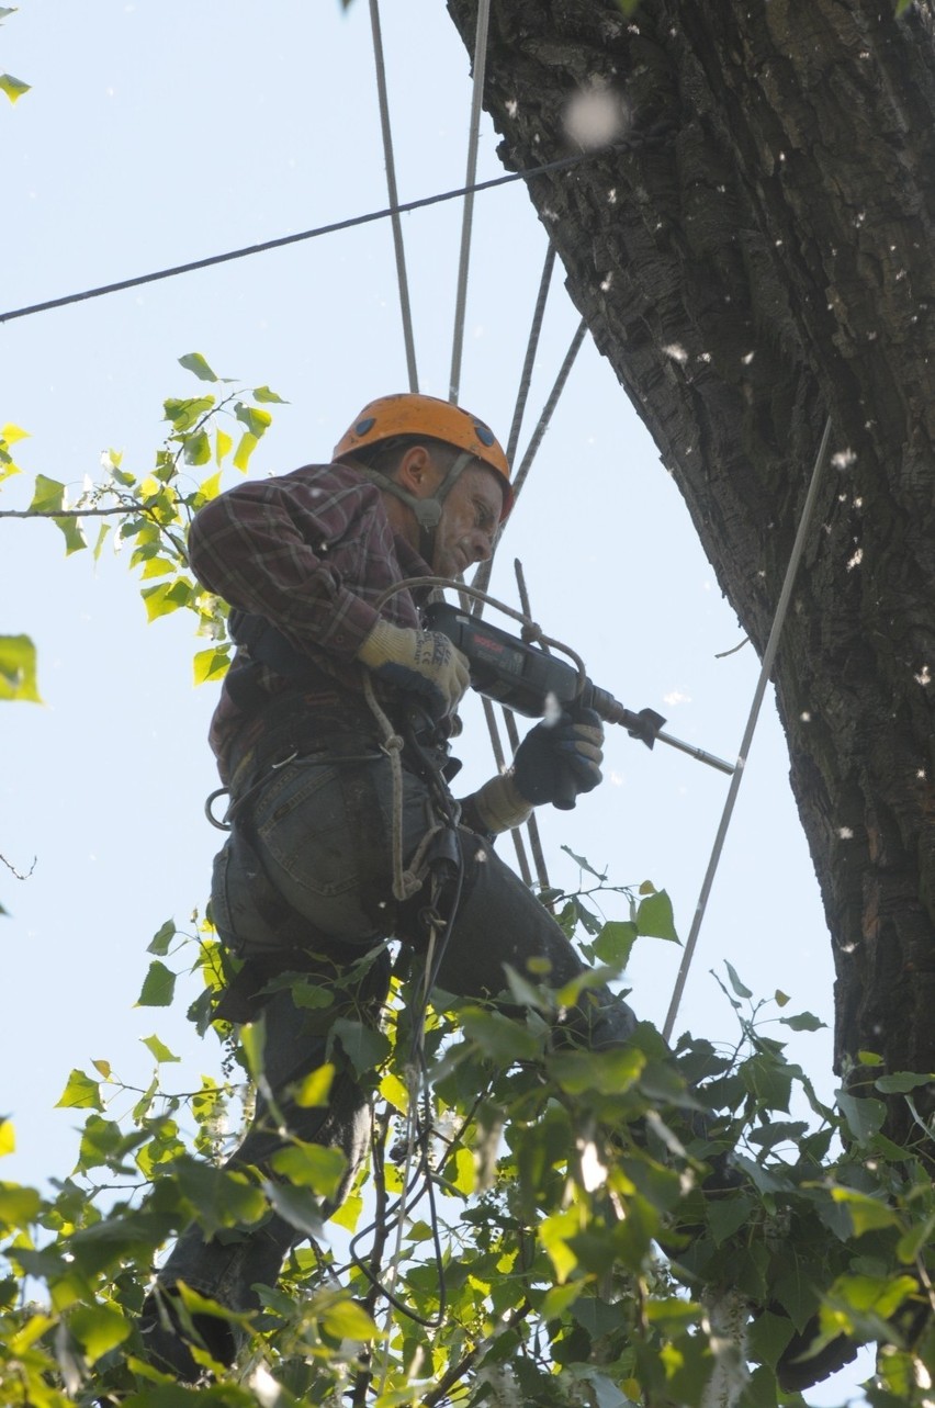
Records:
[[[517,749],[513,780],[534,807],[551,801],[563,811],[579,793],[601,780],[604,729],[593,708],[563,711],[555,724],[536,724]]]

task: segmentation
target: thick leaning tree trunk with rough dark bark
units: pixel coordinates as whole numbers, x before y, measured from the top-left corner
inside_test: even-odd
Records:
[[[448,3],[473,48],[476,0]],[[620,103],[632,145],[531,197],[760,652],[832,418],[774,680],[839,1069],[935,1070],[934,34],[928,0],[493,0],[490,23],[508,168],[567,155],[576,94]]]

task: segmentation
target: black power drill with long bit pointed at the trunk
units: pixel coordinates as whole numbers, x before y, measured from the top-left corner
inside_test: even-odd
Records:
[[[590,680],[580,687],[577,670],[556,655],[549,655],[539,646],[527,645],[515,635],[500,631],[487,621],[480,621],[469,611],[449,605],[448,601],[432,601],[425,608],[425,627],[441,631],[468,658],[470,686],[479,694],[497,700],[527,718],[542,718],[555,700],[559,705],[593,708],[605,724],[621,724],[631,738],[641,739],[646,748],[659,739],[672,748],[697,758],[698,762],[717,767],[722,773],[734,773],[732,763],[707,753],[703,748],[684,743],[672,734],[663,734],[666,722],[662,714],[652,708],[634,712],[614,698],[608,690],[598,689]]]

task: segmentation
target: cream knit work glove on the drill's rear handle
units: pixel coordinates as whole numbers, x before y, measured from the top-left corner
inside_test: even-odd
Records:
[[[377,621],[358,660],[386,684],[418,694],[432,718],[453,714],[470,684],[468,660],[441,631]]]

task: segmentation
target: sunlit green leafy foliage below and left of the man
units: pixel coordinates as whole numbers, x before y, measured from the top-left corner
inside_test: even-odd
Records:
[[[182,362],[210,390],[165,403],[152,472],[110,452],[106,482],[72,505],[38,476],[31,513],[56,522],[66,552],[86,546],[92,517],[115,517],[149,618],[193,611],[211,642],[196,677],[211,679],[227,665],[224,608],[189,576],[184,534],[221,469],[249,460],[279,398],[228,391],[200,353]],[[192,476],[208,463],[207,479]],[[14,677],[3,659],[0,679]],[[665,891],[613,886],[573,859],[580,887],[542,900],[600,981],[622,976],[635,943],[677,942]],[[605,901],[625,917],[607,918]],[[262,1042],[259,1022],[235,1033],[211,1019],[230,960],[208,919],[192,934],[168,919],[149,955],[138,1004],[166,1007],[179,974],[197,970],[189,1017],[217,1038],[221,1074],[173,1088],[175,1056],[153,1032],[145,1090],[106,1059],[68,1076],[59,1104],[83,1118],[75,1169],[49,1191],[0,1183],[0,1401],[707,1408],[713,1374],[734,1364],[739,1408],[770,1408],[801,1402],[777,1387],[789,1346],[810,1353],[815,1335],[821,1349],[842,1333],[881,1346],[874,1408],[929,1401],[935,1191],[915,1105],[929,1074],[884,1071],[866,1052],[825,1105],[774,1035],[817,1019],[789,1014],[783,993],[758,1001],[729,966],[731,1046],[686,1035],[669,1052],[649,1024],[620,1050],[560,1043],[551,1018],[575,991],[520,973],[520,1015],[442,994],[420,1036],[420,973],[397,960],[382,1031],[345,1019],[339,1032],[372,1073],[373,1143],[325,1219],[344,1173],[334,1149],[286,1138],[269,1170],[222,1167],[263,1083]],[[332,1077],[330,1062],[313,1071],[299,1104],[324,1105]],[[893,1100],[914,1112],[911,1146],[886,1132]],[[0,1121],[0,1156],[13,1148]],[[308,1242],[259,1314],[183,1293],[186,1314],[218,1314],[242,1335],[235,1369],[197,1350],[214,1381],[187,1388],[146,1364],[138,1316],[161,1246],[192,1219],[231,1235],[270,1208]]]

